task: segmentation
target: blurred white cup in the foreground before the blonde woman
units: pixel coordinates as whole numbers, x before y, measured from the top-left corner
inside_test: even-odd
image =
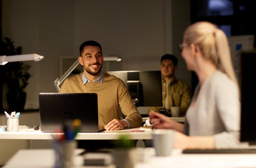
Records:
[[[157,156],[169,156],[173,151],[173,130],[152,130],[153,144]]]

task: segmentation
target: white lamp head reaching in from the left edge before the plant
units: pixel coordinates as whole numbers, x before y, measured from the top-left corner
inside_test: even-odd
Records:
[[[27,54],[27,55],[1,55],[0,56],[0,65],[7,64],[8,62],[22,62],[22,61],[40,61],[43,59],[43,56],[38,54]]]

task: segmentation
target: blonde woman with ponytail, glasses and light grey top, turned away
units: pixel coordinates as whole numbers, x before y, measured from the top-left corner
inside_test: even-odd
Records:
[[[152,111],[152,125],[176,130],[175,148],[247,146],[239,141],[241,104],[227,36],[210,22],[196,22],[184,31],[180,49],[199,80],[185,124]]]

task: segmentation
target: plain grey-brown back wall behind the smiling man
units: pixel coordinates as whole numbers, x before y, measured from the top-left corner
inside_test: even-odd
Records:
[[[83,41],[98,41],[105,55],[122,58],[118,63],[105,63],[105,70],[159,70],[161,55],[174,51],[173,36],[182,36],[183,27],[178,25],[189,20],[189,11],[175,6],[188,8],[188,1],[2,0],[3,36],[22,46],[24,54],[45,57],[40,62],[29,62],[32,78],[26,88],[25,108],[38,108],[39,92],[56,92],[53,81],[59,77],[60,57],[78,57]],[[185,19],[173,20],[181,11]],[[181,59],[179,52],[175,54]],[[190,73],[184,64],[177,77],[190,85]]]

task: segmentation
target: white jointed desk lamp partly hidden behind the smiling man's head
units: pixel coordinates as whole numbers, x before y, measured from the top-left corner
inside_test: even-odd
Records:
[[[103,59],[104,61],[116,61],[116,62],[120,62],[121,59],[119,57],[104,57]],[[56,80],[54,81],[54,85],[57,89],[57,91],[60,91],[60,84],[67,78],[67,76],[69,76],[69,74],[76,68],[76,66],[79,65],[79,59],[76,59],[76,62],[74,62],[74,64],[72,64],[72,66],[70,66],[69,69],[67,69],[67,71],[60,77],[60,78],[56,78]]]

